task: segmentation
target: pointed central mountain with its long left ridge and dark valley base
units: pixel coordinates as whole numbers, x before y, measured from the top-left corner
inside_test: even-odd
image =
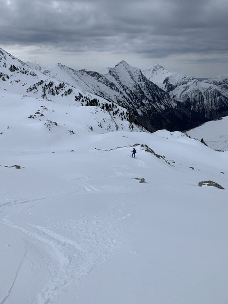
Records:
[[[34,64],[28,64],[34,67]],[[101,73],[73,70],[61,64],[36,68],[59,81],[64,79],[77,89],[114,101],[133,114],[131,121],[139,122],[152,132],[159,129],[184,130],[207,121],[195,110],[171,98],[141,70],[125,61]]]

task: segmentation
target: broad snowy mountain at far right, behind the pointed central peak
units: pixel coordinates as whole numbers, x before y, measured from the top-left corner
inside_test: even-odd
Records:
[[[215,119],[228,115],[228,90],[210,84],[209,80],[200,82],[186,75],[170,72],[155,65],[142,73],[167,92],[171,98],[205,119]]]

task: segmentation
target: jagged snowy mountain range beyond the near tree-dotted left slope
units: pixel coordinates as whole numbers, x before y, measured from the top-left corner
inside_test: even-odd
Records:
[[[59,81],[66,79],[80,90],[118,103],[149,131],[185,130],[228,114],[228,90],[169,72],[160,65],[141,71],[121,61],[100,73],[72,70],[61,64],[29,65]]]

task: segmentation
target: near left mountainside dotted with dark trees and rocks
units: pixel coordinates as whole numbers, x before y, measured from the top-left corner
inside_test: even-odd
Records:
[[[109,102],[100,96],[88,93],[88,91],[83,92],[76,89],[75,86],[66,82],[67,77],[63,80],[64,77],[57,77],[57,75],[55,75],[55,77],[49,76],[47,69],[48,67],[25,64],[6,51],[0,49],[1,98],[9,100],[12,99],[12,97],[7,98],[8,95],[16,95],[18,100],[30,100],[31,104],[37,103],[38,100],[41,107],[33,110],[31,106],[31,112],[27,118],[32,118],[31,121],[40,121],[39,123],[46,125],[49,125],[50,121],[52,122],[50,119],[51,116],[49,117],[49,112],[51,111],[48,110],[50,108],[49,103],[52,102],[62,106],[61,109],[64,109],[62,115],[64,116],[68,111],[75,113],[74,107],[96,107],[91,110],[91,113],[94,114],[94,117],[96,117],[95,113],[103,113],[100,115],[102,118],[97,121],[94,120],[93,126],[88,125],[87,129],[89,130],[95,129],[96,127],[101,129],[100,132],[142,130],[141,126],[136,126],[134,122],[131,121],[132,114],[127,112],[125,108],[114,102]],[[46,106],[46,101],[49,102],[48,106]],[[22,103],[23,102],[24,100]],[[64,107],[69,106],[71,108],[66,111]],[[56,125],[55,123],[53,124]],[[86,121],[85,124],[87,124]]]

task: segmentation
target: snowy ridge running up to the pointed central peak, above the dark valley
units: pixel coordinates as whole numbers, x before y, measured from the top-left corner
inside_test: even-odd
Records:
[[[64,79],[69,85],[81,91],[96,94],[119,104],[133,116],[137,116],[137,121],[148,130],[153,131],[158,128],[158,126],[150,127],[151,112],[154,116],[162,117],[160,112],[172,107],[171,99],[163,90],[148,81],[141,70],[131,67],[125,61],[117,64],[115,68],[107,69],[104,74],[73,70],[60,64],[49,67],[44,73],[59,81]],[[148,117],[146,124],[144,116]],[[157,118],[157,121],[160,119]],[[161,126],[163,127],[163,124]]]

